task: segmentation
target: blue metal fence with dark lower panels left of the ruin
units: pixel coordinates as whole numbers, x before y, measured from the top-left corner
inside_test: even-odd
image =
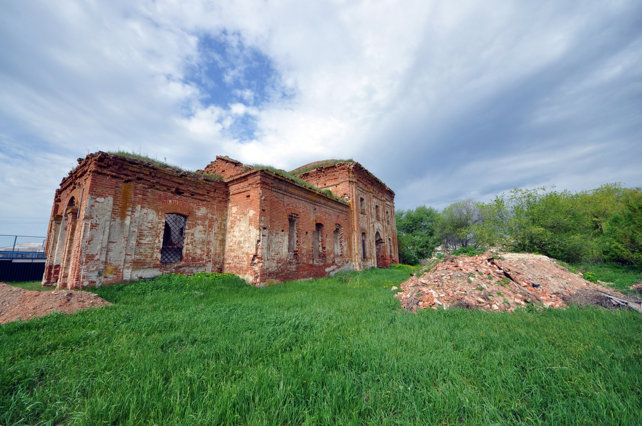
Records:
[[[42,280],[45,237],[0,235],[0,281]]]

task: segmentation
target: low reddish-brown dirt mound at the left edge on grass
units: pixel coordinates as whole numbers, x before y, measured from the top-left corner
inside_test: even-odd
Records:
[[[31,291],[0,282],[0,324],[45,316],[51,312],[70,314],[89,307],[111,305],[98,294],[87,291]]]

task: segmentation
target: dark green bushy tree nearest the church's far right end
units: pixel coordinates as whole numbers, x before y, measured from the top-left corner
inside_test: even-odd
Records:
[[[399,261],[417,264],[419,260],[431,257],[439,245],[435,230],[439,221],[437,210],[421,205],[416,209],[397,210],[395,218]]]

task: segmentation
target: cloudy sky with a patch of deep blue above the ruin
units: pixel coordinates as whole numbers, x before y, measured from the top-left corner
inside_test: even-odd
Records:
[[[0,234],[76,158],[352,158],[395,207],[642,186],[642,2],[0,2]]]

